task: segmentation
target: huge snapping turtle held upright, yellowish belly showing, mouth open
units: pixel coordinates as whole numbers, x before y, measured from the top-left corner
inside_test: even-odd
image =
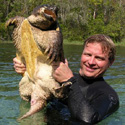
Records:
[[[64,97],[64,88],[52,76],[52,62],[64,62],[63,38],[57,22],[57,8],[50,5],[36,7],[27,17],[16,16],[6,22],[14,25],[13,41],[17,58],[26,65],[19,83],[20,96],[30,101],[31,108],[23,119],[41,110],[46,101]]]

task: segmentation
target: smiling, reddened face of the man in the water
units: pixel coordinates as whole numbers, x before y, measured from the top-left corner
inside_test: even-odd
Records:
[[[80,75],[86,78],[102,76],[111,65],[108,58],[108,51],[102,52],[100,43],[88,43],[81,56]]]

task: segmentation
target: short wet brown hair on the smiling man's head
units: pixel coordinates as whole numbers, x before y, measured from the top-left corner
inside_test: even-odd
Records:
[[[109,52],[108,55],[109,55],[110,62],[115,60],[116,48],[115,48],[114,42],[109,36],[104,34],[96,34],[96,35],[90,36],[85,40],[83,49],[88,43],[94,43],[94,42],[101,44],[102,51],[104,53]]]

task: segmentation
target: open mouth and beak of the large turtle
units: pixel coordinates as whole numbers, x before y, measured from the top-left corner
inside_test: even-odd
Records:
[[[56,14],[52,10],[45,9],[43,14],[50,21],[56,21],[57,19]]]

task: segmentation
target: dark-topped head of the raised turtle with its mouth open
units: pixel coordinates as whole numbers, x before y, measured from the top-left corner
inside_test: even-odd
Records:
[[[57,23],[58,8],[56,6],[42,5],[34,8],[28,17],[31,25],[47,30]]]

